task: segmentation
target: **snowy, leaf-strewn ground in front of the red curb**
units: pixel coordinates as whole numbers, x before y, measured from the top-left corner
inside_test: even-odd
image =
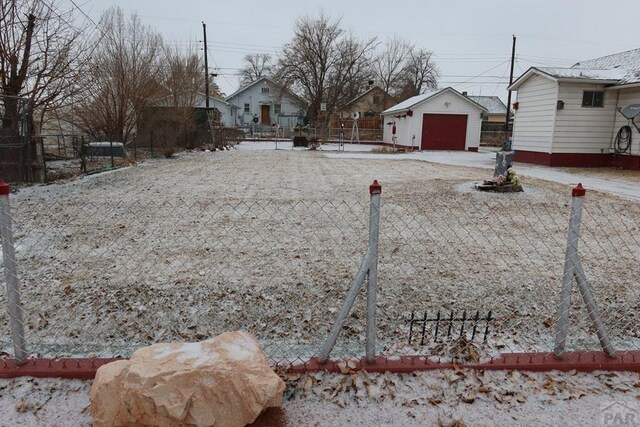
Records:
[[[282,422],[258,425],[585,426],[640,417],[637,373],[446,370],[284,379]],[[89,426],[90,387],[79,380],[0,380],[0,424]]]

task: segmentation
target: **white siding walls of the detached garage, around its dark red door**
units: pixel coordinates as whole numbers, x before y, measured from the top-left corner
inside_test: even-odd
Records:
[[[448,104],[448,106],[447,106]],[[423,104],[413,109],[413,117],[394,118],[393,115],[383,117],[383,140],[392,142],[391,126],[387,123],[396,122],[397,143],[411,146],[411,140],[415,135],[415,147],[422,145],[422,115],[429,114],[462,114],[467,116],[467,138],[465,150],[480,145],[480,128],[482,126],[482,109],[470,101],[466,101],[452,92],[443,92],[434,96]]]

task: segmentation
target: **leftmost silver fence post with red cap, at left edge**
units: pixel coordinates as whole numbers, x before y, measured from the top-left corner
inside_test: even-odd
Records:
[[[20,290],[18,289],[19,281],[15,247],[13,246],[13,228],[9,193],[9,186],[0,179],[0,235],[2,236],[2,258],[4,263],[4,277],[7,283],[7,301],[9,303],[11,338],[13,339],[16,361],[18,363],[24,363],[27,360],[27,347],[24,337],[24,321],[22,316],[22,304],[20,303]]]

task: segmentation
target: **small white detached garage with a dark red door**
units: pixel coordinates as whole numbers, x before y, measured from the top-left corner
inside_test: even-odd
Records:
[[[411,97],[382,112],[383,140],[421,150],[477,151],[486,109],[453,88]]]

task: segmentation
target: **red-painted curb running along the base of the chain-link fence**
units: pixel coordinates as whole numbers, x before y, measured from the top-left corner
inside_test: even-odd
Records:
[[[288,361],[276,365],[285,372],[303,374],[307,372],[351,373],[396,372],[407,373],[436,369],[478,369],[478,370],[518,370],[531,372],[546,371],[627,371],[640,372],[640,351],[620,352],[611,359],[600,351],[567,352],[562,359],[553,353],[504,353],[489,362],[457,364],[448,361],[430,361],[425,356],[400,356],[376,358],[374,363],[366,359],[336,359],[319,363],[314,357],[301,363]],[[16,365],[14,359],[2,359],[0,378],[41,377],[93,379],[102,365],[123,359],[29,359],[23,365]],[[348,365],[347,365],[348,362]]]

